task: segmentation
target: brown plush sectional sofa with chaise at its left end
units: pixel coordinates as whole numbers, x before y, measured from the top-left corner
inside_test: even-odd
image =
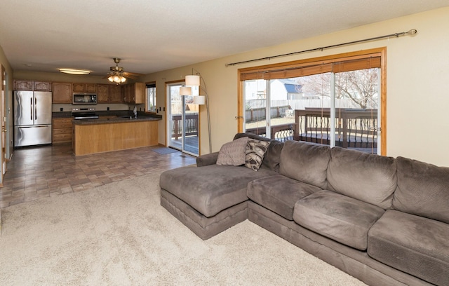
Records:
[[[200,238],[249,219],[368,285],[449,285],[449,168],[270,141],[257,172],[217,165],[161,174],[161,205]]]

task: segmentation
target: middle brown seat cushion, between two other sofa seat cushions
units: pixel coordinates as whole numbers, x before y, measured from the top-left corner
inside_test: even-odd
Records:
[[[383,213],[384,209],[376,205],[322,190],[298,200],[293,219],[322,236],[366,250],[368,230]]]

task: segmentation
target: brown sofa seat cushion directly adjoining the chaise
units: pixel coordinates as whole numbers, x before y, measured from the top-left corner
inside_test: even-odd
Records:
[[[274,175],[249,182],[248,198],[288,220],[293,220],[296,201],[319,190],[318,186]]]

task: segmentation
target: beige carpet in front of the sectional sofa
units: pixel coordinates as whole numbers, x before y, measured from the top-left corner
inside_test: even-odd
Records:
[[[0,285],[364,285],[245,221],[203,241],[159,205],[159,175],[2,211]]]

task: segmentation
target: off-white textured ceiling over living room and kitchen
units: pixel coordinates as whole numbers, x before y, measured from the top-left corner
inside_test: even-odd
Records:
[[[1,0],[0,46],[15,71],[105,75],[121,57],[125,71],[149,74],[443,6],[449,1]]]

